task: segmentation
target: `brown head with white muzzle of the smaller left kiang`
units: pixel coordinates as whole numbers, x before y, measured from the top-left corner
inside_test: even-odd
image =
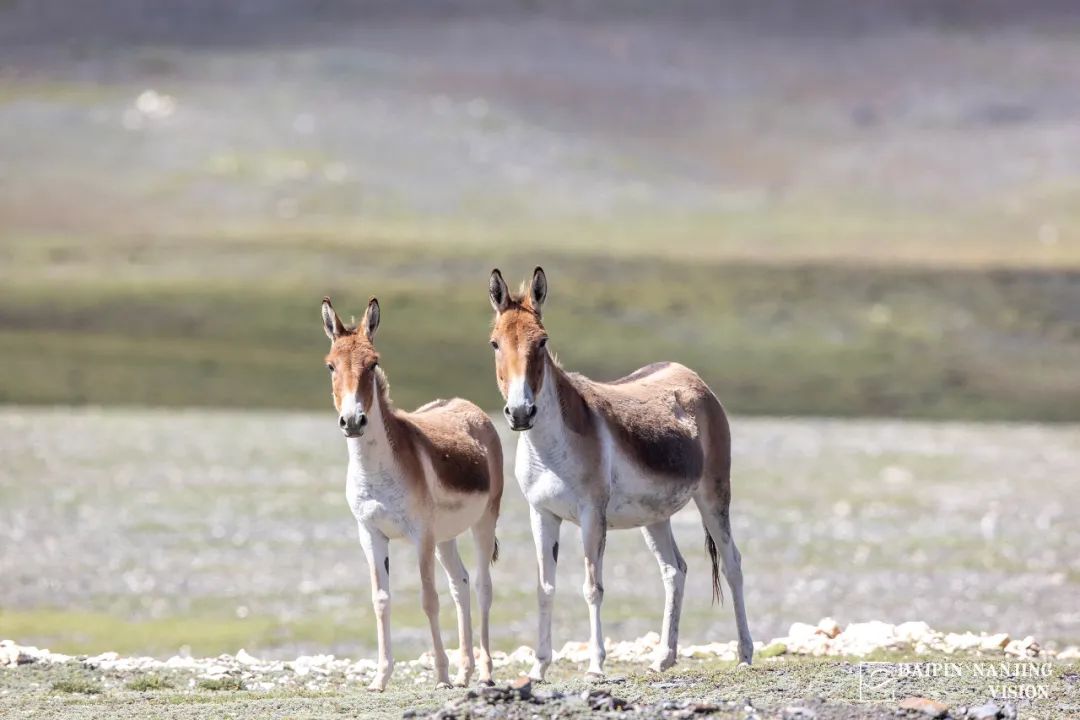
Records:
[[[347,327],[329,298],[323,298],[323,329],[330,339],[326,367],[330,372],[338,426],[346,437],[360,437],[367,425],[367,412],[378,402],[379,353],[372,344],[379,327],[379,301],[372,298],[364,317]]]

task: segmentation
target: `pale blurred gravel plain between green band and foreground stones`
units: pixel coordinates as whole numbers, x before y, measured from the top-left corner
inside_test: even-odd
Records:
[[[1080,641],[1076,426],[737,418],[733,431],[756,639],[832,615]],[[8,408],[0,458],[0,637],[156,656],[372,652],[332,413]],[[535,641],[536,602],[526,504],[508,480],[492,611],[504,651]],[[692,511],[675,533],[690,567],[683,643],[734,638],[730,609],[708,601]],[[576,535],[564,528],[556,647],[588,635]],[[415,563],[401,543],[392,555]],[[657,630],[662,585],[637,532],[611,533],[605,571],[606,634]],[[416,655],[428,646],[416,575],[392,586],[395,649]]]

